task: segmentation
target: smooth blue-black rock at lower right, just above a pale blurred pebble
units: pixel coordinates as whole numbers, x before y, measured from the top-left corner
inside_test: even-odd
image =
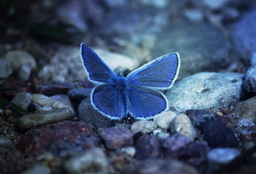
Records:
[[[203,132],[210,147],[237,147],[234,132],[215,120],[204,123]]]

